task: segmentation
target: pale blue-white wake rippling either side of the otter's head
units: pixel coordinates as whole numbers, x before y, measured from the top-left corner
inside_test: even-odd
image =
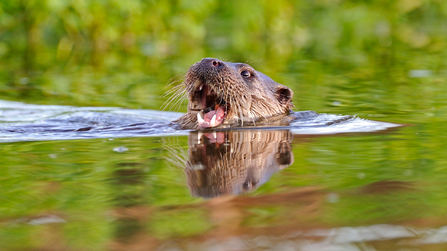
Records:
[[[32,105],[0,100],[0,142],[188,135],[189,131],[180,130],[171,123],[181,115],[142,109]],[[293,134],[336,134],[400,126],[313,111],[294,112],[290,116],[290,126],[262,128],[289,129]],[[253,128],[258,127],[243,129]]]

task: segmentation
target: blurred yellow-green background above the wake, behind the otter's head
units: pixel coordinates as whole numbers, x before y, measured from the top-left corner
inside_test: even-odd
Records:
[[[159,109],[171,77],[219,57],[310,90],[301,108],[383,112],[394,103],[365,97],[414,95],[410,70],[431,71],[429,92],[445,83],[446,23],[443,0],[2,1],[0,97]]]

